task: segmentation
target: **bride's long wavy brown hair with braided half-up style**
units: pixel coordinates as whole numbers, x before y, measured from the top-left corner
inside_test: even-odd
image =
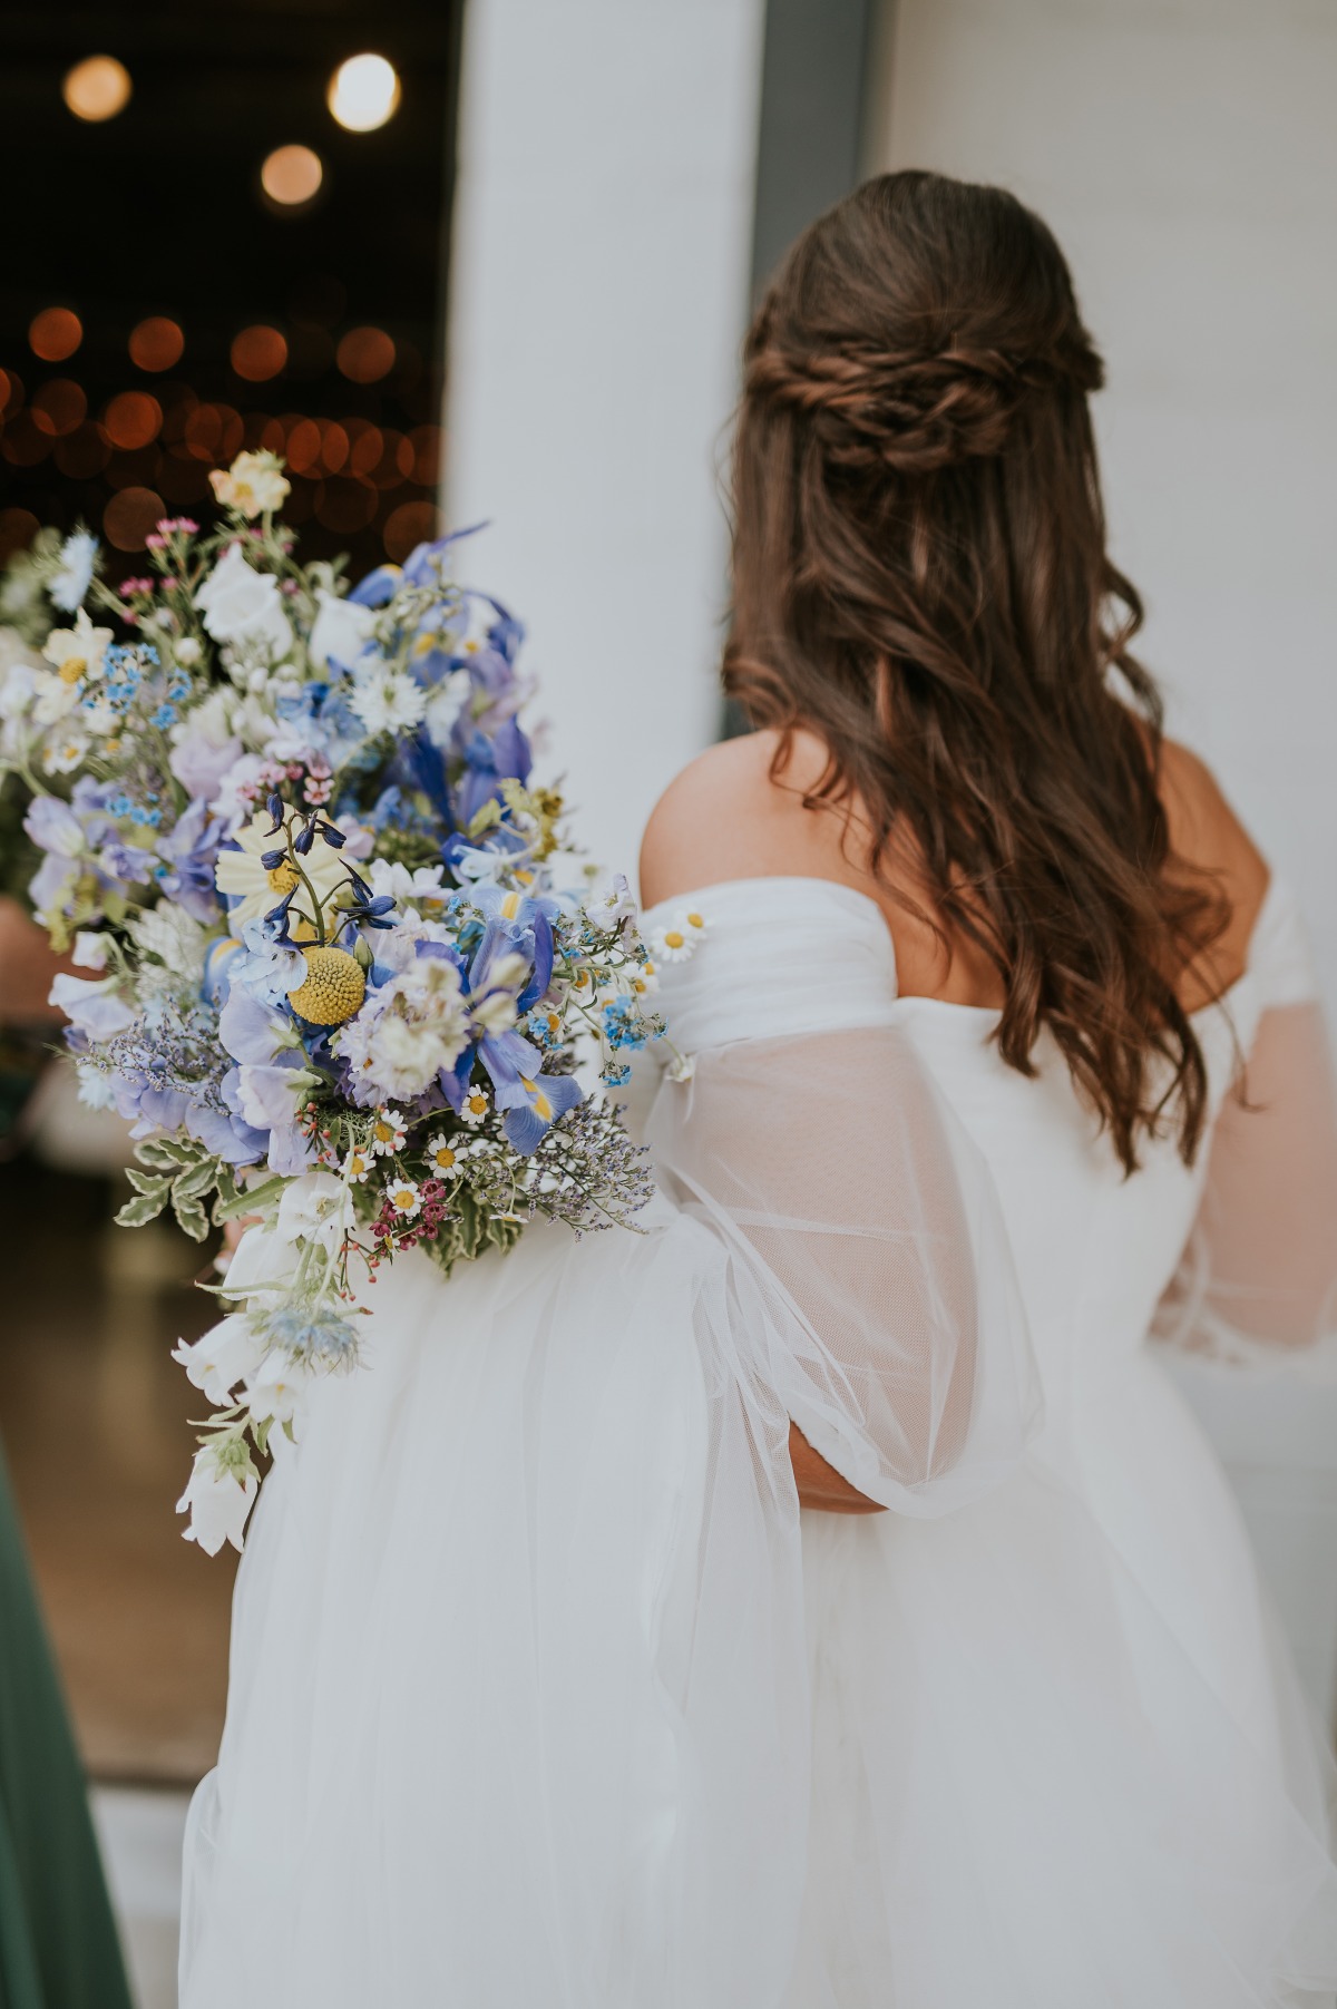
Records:
[[[1176,984],[1229,924],[1170,856],[1156,685],[1106,556],[1088,392],[1102,364],[1016,197],[881,175],[791,249],[751,327],[725,685],[827,749],[811,808],[1006,986],[998,1049],[1048,1027],[1126,1171],[1207,1069]],[[849,826],[853,832],[855,824]]]

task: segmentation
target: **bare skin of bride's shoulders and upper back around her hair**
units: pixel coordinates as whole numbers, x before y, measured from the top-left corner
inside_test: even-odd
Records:
[[[847,818],[843,810],[803,806],[805,792],[825,769],[821,741],[807,731],[795,733],[791,757],[773,777],[777,745],[773,731],[725,739],[666,788],[640,848],[644,904],[656,906],[723,880],[837,880],[881,906],[895,942],[901,994],[998,1007],[1002,978],[984,952],[960,938],[946,946],[933,920],[913,912],[923,902],[913,858],[897,856],[893,848],[881,876],[873,878],[863,864],[857,810]],[[1209,872],[1231,904],[1225,936],[1180,982],[1182,1000],[1192,1011],[1243,972],[1269,872],[1209,767],[1174,741],[1164,743],[1160,794],[1174,856]],[[897,900],[897,892],[909,906]]]

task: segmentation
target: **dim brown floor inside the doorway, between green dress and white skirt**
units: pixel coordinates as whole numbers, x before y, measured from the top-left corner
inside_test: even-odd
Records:
[[[235,1557],[181,1539],[201,1394],[169,1352],[211,1322],[175,1227],[116,1227],[106,1177],[0,1163],[0,1434],[94,1778],[217,1754]]]

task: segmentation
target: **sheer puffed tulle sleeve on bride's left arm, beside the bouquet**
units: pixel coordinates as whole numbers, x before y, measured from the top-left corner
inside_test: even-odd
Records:
[[[998,1195],[895,1027],[705,1053],[650,1143],[735,1252],[737,1372],[853,1487],[944,1513],[1016,1467],[1040,1396]]]

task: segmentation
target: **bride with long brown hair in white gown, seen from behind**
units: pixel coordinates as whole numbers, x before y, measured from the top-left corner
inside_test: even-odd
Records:
[[[642,854],[658,1197],[377,1286],[243,1561],[185,2009],[1335,2001],[1327,1758],[1150,1344],[1325,1336],[1331,1079],[1128,653],[1100,376],[996,189],[789,255],[759,729]]]

